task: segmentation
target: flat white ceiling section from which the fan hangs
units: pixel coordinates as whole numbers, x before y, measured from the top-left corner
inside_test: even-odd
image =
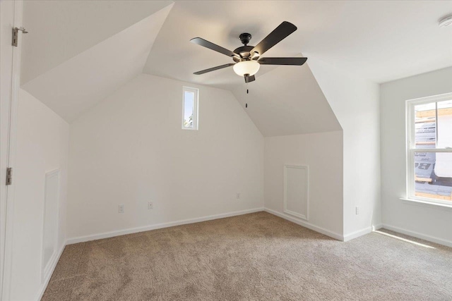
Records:
[[[452,27],[438,20],[452,1],[177,1],[163,25],[145,73],[230,88],[243,81],[232,68],[193,75],[232,59],[189,42],[203,37],[227,49],[256,45],[281,22],[298,30],[264,56],[314,54],[374,82],[452,66]],[[258,76],[273,67],[262,66]]]

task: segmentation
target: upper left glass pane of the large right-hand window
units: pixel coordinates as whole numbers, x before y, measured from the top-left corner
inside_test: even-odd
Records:
[[[417,149],[436,148],[436,103],[415,106],[415,143]]]

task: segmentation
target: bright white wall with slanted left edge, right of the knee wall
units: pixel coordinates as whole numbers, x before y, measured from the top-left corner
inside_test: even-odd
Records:
[[[308,56],[309,67],[343,128],[347,240],[381,223],[379,85]]]

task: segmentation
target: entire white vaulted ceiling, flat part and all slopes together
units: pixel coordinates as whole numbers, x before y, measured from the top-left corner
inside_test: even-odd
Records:
[[[193,75],[232,59],[189,39],[233,50],[287,20],[298,30],[265,56],[386,82],[452,66],[452,28],[437,25],[448,13],[452,1],[25,1],[21,82],[69,122],[143,72],[230,90],[266,136],[337,130],[309,59],[245,85],[232,68]]]

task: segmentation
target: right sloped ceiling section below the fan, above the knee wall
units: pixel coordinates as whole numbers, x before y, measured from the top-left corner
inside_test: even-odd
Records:
[[[278,78],[278,85],[275,85]],[[248,93],[247,93],[248,90]],[[311,69],[281,66],[232,93],[264,137],[340,130]]]

